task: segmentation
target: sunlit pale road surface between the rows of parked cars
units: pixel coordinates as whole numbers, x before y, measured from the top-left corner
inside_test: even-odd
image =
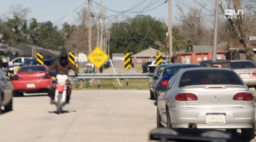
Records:
[[[71,105],[56,114],[45,95],[15,97],[0,115],[0,142],[146,142],[156,128],[149,91],[73,91]],[[241,142],[241,134],[233,136]]]

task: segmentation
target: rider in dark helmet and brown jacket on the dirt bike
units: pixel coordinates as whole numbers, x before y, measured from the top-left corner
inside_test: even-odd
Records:
[[[56,75],[56,79],[57,79],[57,83],[59,84],[65,84],[67,79],[68,79],[68,72],[69,72],[69,69],[72,69],[73,71],[75,71],[75,77],[77,77],[77,73],[78,73],[78,69],[75,65],[73,65],[71,62],[69,62],[68,60],[68,55],[67,55],[67,52],[66,51],[62,51],[61,52],[61,55],[59,57],[59,60],[57,61],[54,61],[53,64],[51,65],[51,67],[49,67],[49,73],[51,76],[53,76],[53,73],[52,71],[56,69],[57,71],[57,75]],[[56,87],[52,87],[52,91],[50,93],[50,96],[51,97],[51,101],[50,101],[50,104],[53,104],[54,101],[55,101],[55,89]],[[63,93],[63,95],[66,95],[67,92],[70,93],[70,91],[68,91],[69,89],[71,89],[71,86],[70,87],[67,87],[67,91],[65,91],[65,93]],[[66,104],[69,104],[69,99],[70,99],[70,94],[67,95],[67,98],[66,98]],[[64,102],[62,102],[64,103]]]

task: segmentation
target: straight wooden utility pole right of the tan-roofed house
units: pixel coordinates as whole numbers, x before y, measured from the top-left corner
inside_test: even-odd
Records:
[[[173,33],[172,33],[172,0],[168,0],[168,11],[169,11],[169,25],[168,25],[168,35],[169,35],[169,57],[171,62],[171,57],[173,57]]]

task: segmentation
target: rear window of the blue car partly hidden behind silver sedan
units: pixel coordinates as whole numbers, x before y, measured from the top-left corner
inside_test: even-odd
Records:
[[[201,67],[200,65],[179,65],[179,66],[171,66],[171,67],[165,67],[162,71],[162,77],[167,75],[174,75],[177,71],[183,68],[191,68],[191,67]]]

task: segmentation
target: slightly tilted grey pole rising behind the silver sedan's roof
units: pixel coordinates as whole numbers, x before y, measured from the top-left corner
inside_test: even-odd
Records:
[[[216,0],[212,61],[216,61],[216,56],[217,56],[218,14],[219,14],[219,0]]]

